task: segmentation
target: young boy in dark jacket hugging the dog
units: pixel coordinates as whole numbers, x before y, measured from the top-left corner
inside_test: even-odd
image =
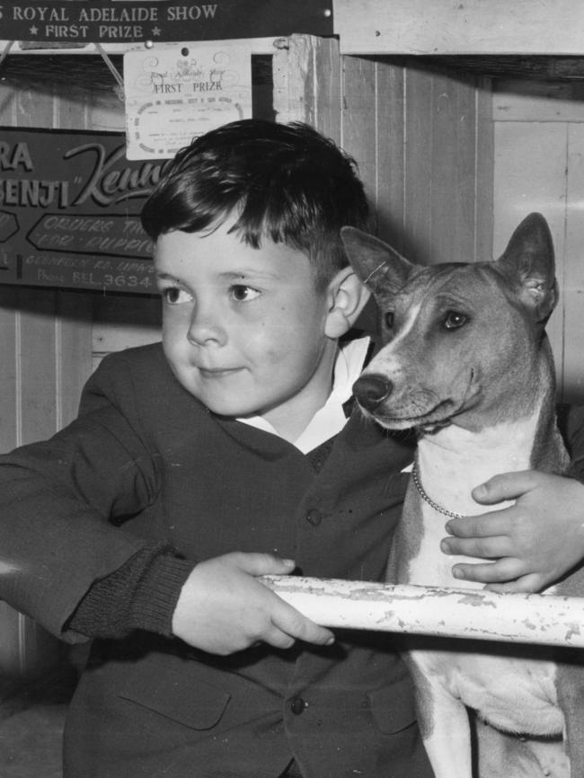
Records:
[[[194,141],[143,212],[162,345],[0,459],[0,597],[94,639],[66,778],[430,778],[397,639],[333,636],[258,580],[383,578],[411,441],[350,408],[367,292],[339,231],[367,220],[310,128]]]

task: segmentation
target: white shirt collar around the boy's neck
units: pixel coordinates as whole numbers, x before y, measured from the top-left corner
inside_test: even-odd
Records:
[[[352,386],[363,369],[369,342],[369,338],[350,340],[339,349],[334,364],[332,392],[323,407],[314,413],[313,418],[293,442],[303,454],[313,451],[316,446],[341,432],[345,426],[347,419],[342,406],[352,396]],[[261,416],[251,416],[238,421],[279,436],[278,430]]]

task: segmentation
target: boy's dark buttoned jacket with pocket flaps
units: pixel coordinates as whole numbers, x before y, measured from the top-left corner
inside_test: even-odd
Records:
[[[95,638],[64,778],[275,778],[293,757],[305,778],[429,778],[393,637],[339,631],[328,647],[219,657],[169,634],[190,569],[223,553],[383,579],[410,461],[411,441],[358,411],[312,457],[219,418],[179,385],[160,344],[105,358],[78,420],[0,457],[0,544],[17,570],[0,596],[4,584],[66,640]]]

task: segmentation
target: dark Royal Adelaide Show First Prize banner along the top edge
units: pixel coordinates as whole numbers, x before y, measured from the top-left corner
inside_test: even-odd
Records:
[[[226,40],[304,32],[332,35],[332,2],[217,0],[211,3],[134,0],[0,2],[4,40],[61,43]]]

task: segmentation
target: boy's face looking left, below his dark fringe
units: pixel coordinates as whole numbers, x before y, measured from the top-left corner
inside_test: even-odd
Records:
[[[293,439],[331,390],[331,294],[319,294],[304,253],[264,240],[174,231],[156,243],[164,353],[209,410],[261,415]]]

